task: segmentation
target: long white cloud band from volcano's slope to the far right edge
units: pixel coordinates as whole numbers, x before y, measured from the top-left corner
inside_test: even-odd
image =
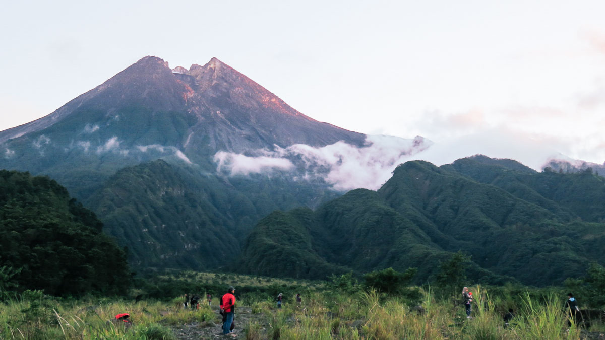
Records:
[[[476,154],[514,159],[536,171],[541,171],[552,160],[578,166],[582,163],[556,151],[548,142],[538,142],[528,135],[502,129],[468,134],[436,144],[423,137],[367,136],[361,148],[337,142],[319,148],[296,144],[271,151],[260,149],[248,155],[220,151],[214,155],[214,161],[218,172],[226,175],[290,172],[293,178],[322,178],[336,191],[348,191],[379,189],[397,165],[410,160],[425,160],[440,166]]]

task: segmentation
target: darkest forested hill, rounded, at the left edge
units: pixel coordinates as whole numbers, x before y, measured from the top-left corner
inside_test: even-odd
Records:
[[[126,257],[102,227],[56,181],[0,170],[0,290],[120,293]]]

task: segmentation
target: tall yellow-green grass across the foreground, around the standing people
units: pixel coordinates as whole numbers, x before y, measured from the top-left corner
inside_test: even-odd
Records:
[[[537,297],[491,296],[482,286],[474,293],[473,318],[464,307],[440,300],[431,287],[417,298],[387,296],[371,290],[353,294],[310,292],[302,306],[284,303],[277,309],[272,299],[238,299],[252,322],[238,324],[246,339],[582,339],[577,325],[567,326],[563,301],[552,293]],[[178,299],[177,299],[178,300]],[[217,321],[211,307],[192,312],[179,301],[126,301],[53,299],[42,292],[5,298],[0,304],[1,339],[175,339],[170,327]],[[422,308],[417,307],[422,306]],[[515,309],[505,328],[502,316]],[[134,326],[113,322],[118,313],[129,313]],[[236,312],[237,313],[237,312]],[[245,319],[245,318],[244,318]],[[242,320],[242,319],[240,319]],[[594,329],[603,326],[595,324]],[[242,336],[243,337],[243,336]]]

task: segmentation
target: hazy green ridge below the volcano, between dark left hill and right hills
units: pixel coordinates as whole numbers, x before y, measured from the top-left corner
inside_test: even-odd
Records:
[[[229,266],[263,216],[336,195],[286,176],[224,178],[155,160],[118,171],[86,203],[134,266],[208,270]]]

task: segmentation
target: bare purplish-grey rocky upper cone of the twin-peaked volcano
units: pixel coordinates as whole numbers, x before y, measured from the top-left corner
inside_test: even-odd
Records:
[[[91,112],[106,114],[97,117],[91,116]],[[146,114],[139,115],[143,112]],[[168,113],[176,114],[178,122],[186,122],[177,126],[178,138],[171,145],[184,148],[197,141],[200,148],[203,145],[213,150],[244,152],[298,143],[323,146],[339,140],[363,145],[365,139],[363,134],[304,116],[216,57],[203,66],[194,64],[189,70],[178,66],[172,70],[162,58],[145,56],[47,117],[0,134],[0,142],[41,131],[72,115],[83,121],[85,114],[85,123],[90,126],[111,126],[103,129],[109,133],[119,125],[112,117],[120,116],[120,122],[125,122],[128,114],[128,119],[136,117],[152,126],[159,124],[157,115]],[[108,122],[107,119],[114,120]],[[80,125],[71,128],[85,130],[85,126]],[[146,145],[165,144],[165,141],[149,141],[144,134],[136,138],[122,135],[123,131],[118,130],[114,135],[133,143],[139,143],[136,139],[139,138],[145,140]],[[108,136],[111,137],[113,135]]]

